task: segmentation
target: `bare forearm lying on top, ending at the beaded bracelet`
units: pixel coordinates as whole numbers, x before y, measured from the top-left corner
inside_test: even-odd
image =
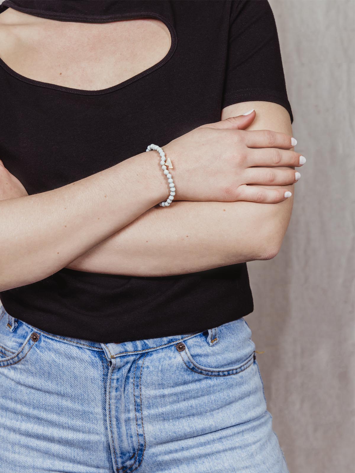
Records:
[[[140,175],[145,189],[137,198]],[[0,290],[59,271],[165,193],[156,159],[137,155],[53,191],[0,201]]]

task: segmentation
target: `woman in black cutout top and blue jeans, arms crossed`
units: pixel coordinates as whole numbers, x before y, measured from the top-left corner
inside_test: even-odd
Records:
[[[305,162],[268,2],[0,9],[0,472],[287,472],[244,319]]]

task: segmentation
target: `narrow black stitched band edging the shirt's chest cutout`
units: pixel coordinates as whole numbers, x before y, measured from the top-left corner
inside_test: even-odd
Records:
[[[39,16],[39,15],[35,15]],[[47,18],[47,17],[45,17]],[[77,18],[77,17],[62,17],[65,18],[67,21],[70,21],[71,19]],[[93,17],[94,18],[94,17]],[[91,19],[90,21],[86,23],[96,23],[98,20]],[[103,21],[105,20],[106,21]],[[109,18],[109,19],[107,19]],[[65,86],[60,86],[58,84],[51,84],[49,82],[42,82],[41,80],[35,80],[35,79],[30,79],[26,76],[23,76],[22,74],[19,74],[15,70],[11,69],[8,64],[6,64],[5,61],[3,61],[0,57],[0,66],[6,70],[11,76],[15,77],[16,79],[21,80],[22,82],[27,82],[28,84],[38,86],[38,87],[44,87],[44,88],[51,88],[54,90],[60,90],[62,92],[68,92],[71,94],[78,94],[78,95],[103,95],[103,94],[108,94],[110,92],[113,92],[115,90],[118,90],[120,88],[124,88],[131,84],[132,82],[135,82],[138,79],[142,79],[142,77],[150,74],[154,70],[159,69],[161,66],[163,66],[166,62],[171,59],[172,55],[175,53],[176,47],[177,47],[177,34],[174,26],[170,23],[170,21],[161,16],[159,13],[152,13],[152,12],[139,12],[139,13],[127,13],[127,14],[121,14],[121,15],[109,15],[107,17],[101,17],[100,18],[100,23],[106,23],[108,21],[119,21],[119,20],[130,20],[130,19],[141,19],[141,18],[156,18],[162,21],[165,26],[168,27],[169,33],[170,33],[170,38],[171,38],[171,44],[170,44],[170,49],[168,53],[161,59],[157,64],[154,64],[150,68],[143,70],[139,74],[136,74],[135,76],[131,77],[130,79],[124,80],[124,82],[121,82],[120,84],[116,84],[115,86],[99,89],[99,90],[85,90],[85,89],[78,89],[78,88],[72,88],[72,87],[65,87]],[[53,18],[54,19],[54,18]]]

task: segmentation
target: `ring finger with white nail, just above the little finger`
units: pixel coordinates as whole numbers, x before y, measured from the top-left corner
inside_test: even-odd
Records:
[[[272,167],[247,167],[243,172],[245,184],[287,185],[294,184],[301,177],[293,169],[273,169]]]

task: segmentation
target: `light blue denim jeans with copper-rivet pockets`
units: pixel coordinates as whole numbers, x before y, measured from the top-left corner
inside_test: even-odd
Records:
[[[0,473],[289,473],[250,337],[99,343],[0,307]]]

